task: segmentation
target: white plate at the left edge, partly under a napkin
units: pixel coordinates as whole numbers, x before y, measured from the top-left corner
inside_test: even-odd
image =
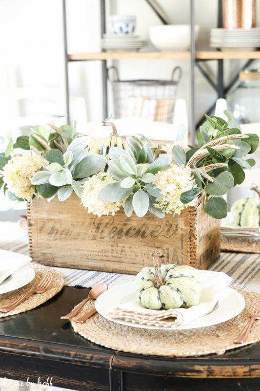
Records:
[[[19,289],[31,282],[34,277],[34,269],[29,265],[24,265],[0,284],[0,294]]]

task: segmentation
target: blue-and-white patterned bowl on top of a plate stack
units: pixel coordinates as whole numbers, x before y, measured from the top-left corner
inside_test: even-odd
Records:
[[[108,30],[110,34],[132,35],[135,29],[135,15],[110,15],[108,17]]]

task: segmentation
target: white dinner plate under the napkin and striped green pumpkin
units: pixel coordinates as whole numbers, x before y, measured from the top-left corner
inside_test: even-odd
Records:
[[[111,288],[102,293],[96,300],[95,306],[100,315],[112,322],[119,323],[120,325],[155,330],[174,330],[173,328],[141,325],[120,319],[111,319],[107,316],[108,311],[114,305],[129,303],[136,299],[135,282],[127,282],[125,284],[115,286],[114,288]],[[214,309],[209,314],[201,316],[201,318],[198,318],[186,325],[178,326],[175,329],[185,330],[190,328],[214,326],[235,318],[235,316],[239,315],[240,312],[244,309],[244,306],[245,301],[243,296],[236,290],[228,287],[219,302],[215,305]]]

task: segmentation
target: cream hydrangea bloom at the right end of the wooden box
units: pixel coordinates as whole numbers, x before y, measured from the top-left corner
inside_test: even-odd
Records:
[[[172,164],[168,170],[159,171],[155,176],[156,180],[153,183],[164,195],[156,199],[155,206],[166,213],[173,212],[174,215],[180,215],[182,209],[191,205],[191,203],[183,204],[180,201],[181,193],[196,187],[190,168]]]

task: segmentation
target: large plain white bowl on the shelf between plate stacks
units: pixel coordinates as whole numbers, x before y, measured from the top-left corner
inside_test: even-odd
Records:
[[[198,39],[200,26],[196,25],[195,42]],[[150,26],[149,37],[151,43],[161,51],[185,51],[190,48],[189,24],[160,24]]]

